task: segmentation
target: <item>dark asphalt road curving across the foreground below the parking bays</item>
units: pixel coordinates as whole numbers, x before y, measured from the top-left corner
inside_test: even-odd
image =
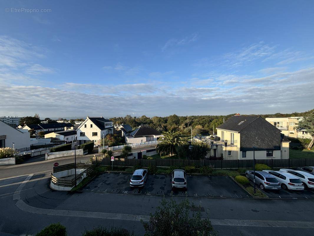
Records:
[[[40,165],[47,165],[46,168],[51,169],[51,162]],[[32,168],[28,164],[25,166]],[[14,167],[9,169],[14,172]],[[106,174],[103,178],[106,179]],[[143,235],[139,220],[148,220],[149,213],[155,211],[162,199],[162,196],[149,194],[93,191],[71,194],[51,190],[49,182],[50,172],[0,180],[0,232],[35,234],[51,223],[61,222],[70,236],[81,235],[85,229],[99,225],[122,226]],[[215,188],[214,184],[212,188]],[[177,201],[184,199],[181,196],[173,198]],[[208,213],[219,235],[313,235],[313,200],[188,199],[204,208],[203,215]]]

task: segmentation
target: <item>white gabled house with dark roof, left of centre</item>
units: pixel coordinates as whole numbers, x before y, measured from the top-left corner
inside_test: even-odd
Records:
[[[78,126],[77,140],[78,144],[94,141],[95,144],[100,144],[100,139],[107,134],[115,134],[116,129],[112,126],[112,121],[104,117],[89,117]]]

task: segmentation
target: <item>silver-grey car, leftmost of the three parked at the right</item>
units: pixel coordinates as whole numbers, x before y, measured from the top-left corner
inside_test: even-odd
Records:
[[[253,181],[253,171],[245,171],[245,176]],[[280,190],[279,181],[271,174],[265,171],[255,171],[255,183],[262,189]]]

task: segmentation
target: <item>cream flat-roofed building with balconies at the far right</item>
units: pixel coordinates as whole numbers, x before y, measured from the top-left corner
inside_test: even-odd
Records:
[[[293,117],[267,117],[266,121],[276,126],[285,136],[293,138],[312,138],[305,129],[298,129],[298,123],[303,119],[303,116]]]

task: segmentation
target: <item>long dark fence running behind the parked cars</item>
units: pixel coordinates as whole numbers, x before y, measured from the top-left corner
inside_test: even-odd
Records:
[[[92,164],[101,166],[110,166],[110,158],[103,158],[102,155],[93,157]],[[290,168],[298,166],[314,166],[314,159],[267,159],[267,160],[255,160],[255,164],[266,164],[271,168]],[[253,168],[253,160],[183,160],[183,159],[125,159],[115,158],[113,162],[114,166],[133,167],[140,165],[143,167],[160,166],[212,166],[214,169],[238,169],[238,168]]]

